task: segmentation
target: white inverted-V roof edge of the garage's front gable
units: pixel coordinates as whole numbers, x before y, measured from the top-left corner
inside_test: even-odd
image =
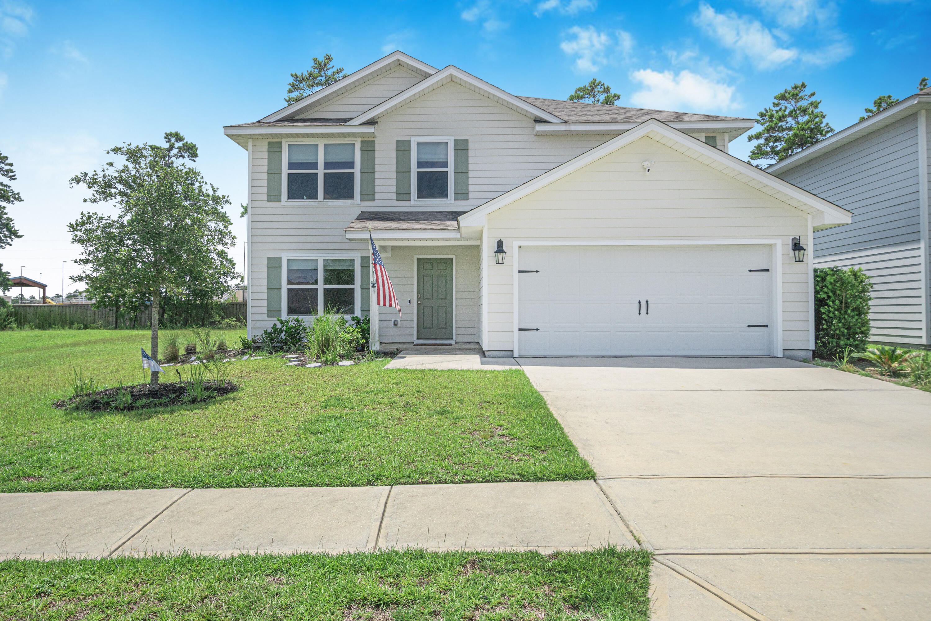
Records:
[[[630,129],[620,136],[608,142],[604,142],[582,155],[574,157],[565,164],[549,170],[539,177],[523,183],[501,196],[492,198],[492,200],[484,205],[472,209],[466,213],[466,215],[461,216],[459,218],[459,223],[461,226],[481,226],[485,223],[485,216],[492,213],[492,211],[501,209],[524,196],[533,194],[533,192],[546,187],[546,185],[556,182],[566,175],[578,169],[582,169],[601,157],[609,155],[643,137],[651,138],[656,142],[665,144],[679,151],[681,154],[693,157],[712,169],[716,169],[739,182],[746,183],[750,187],[773,196],[791,207],[811,214],[814,216],[812,218],[812,223],[816,230],[830,228],[838,224],[850,223],[850,216],[852,215],[850,211],[840,208],[810,192],[806,192],[802,188],[783,181],[741,159],[737,159],[733,155],[728,155],[676,128],[670,128],[665,123],[656,119],[645,121],[636,128]]]

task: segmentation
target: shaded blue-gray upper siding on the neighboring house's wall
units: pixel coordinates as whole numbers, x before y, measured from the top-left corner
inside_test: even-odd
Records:
[[[854,214],[816,232],[816,258],[921,239],[917,115],[776,174]]]

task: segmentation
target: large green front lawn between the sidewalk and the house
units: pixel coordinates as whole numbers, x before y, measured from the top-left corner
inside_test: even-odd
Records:
[[[208,403],[51,407],[73,367],[105,384],[141,382],[141,346],[148,332],[0,332],[0,492],[594,477],[522,371],[266,358],[232,363],[241,389]]]

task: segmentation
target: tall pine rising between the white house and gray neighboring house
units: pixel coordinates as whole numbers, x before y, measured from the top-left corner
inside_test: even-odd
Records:
[[[771,160],[775,164],[834,132],[825,121],[826,115],[818,110],[821,101],[813,99],[815,91],[806,94],[807,88],[804,82],[793,84],[773,98],[772,108],[757,114],[762,129],[747,140],[762,142],[750,151],[750,163]]]

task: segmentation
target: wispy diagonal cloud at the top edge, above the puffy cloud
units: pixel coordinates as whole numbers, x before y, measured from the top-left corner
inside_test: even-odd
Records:
[[[797,49],[780,47],[776,37],[759,21],[738,16],[734,11],[718,13],[704,2],[698,7],[695,25],[757,69],[775,69],[799,55]]]

